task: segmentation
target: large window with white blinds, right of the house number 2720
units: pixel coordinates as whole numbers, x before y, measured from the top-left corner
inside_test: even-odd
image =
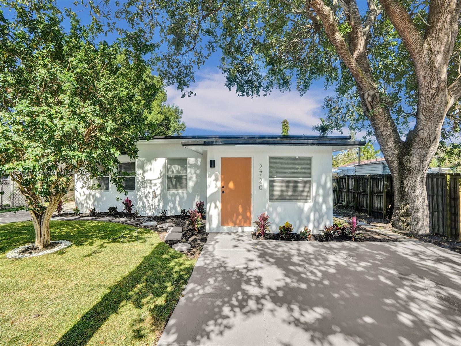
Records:
[[[310,202],[311,156],[269,156],[269,202]]]

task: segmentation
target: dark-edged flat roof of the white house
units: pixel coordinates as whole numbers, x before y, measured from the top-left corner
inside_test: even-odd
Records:
[[[211,136],[154,136],[151,140],[181,140],[189,145],[327,145],[363,146],[365,141],[350,136],[282,136],[282,135],[211,135]]]

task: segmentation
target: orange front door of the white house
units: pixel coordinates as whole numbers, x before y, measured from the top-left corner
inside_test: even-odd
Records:
[[[251,226],[251,157],[221,158],[221,226]]]

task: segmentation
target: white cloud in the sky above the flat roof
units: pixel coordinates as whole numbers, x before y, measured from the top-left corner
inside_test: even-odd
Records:
[[[312,125],[319,123],[321,108],[328,91],[311,88],[300,97],[296,90],[282,93],[273,90],[267,97],[239,97],[235,90],[225,87],[225,76],[220,72],[201,73],[192,85],[196,95],[181,98],[182,93],[167,88],[168,103],[183,109],[187,129],[198,129],[203,134],[279,134],[281,121],[288,119],[290,134],[313,134]]]

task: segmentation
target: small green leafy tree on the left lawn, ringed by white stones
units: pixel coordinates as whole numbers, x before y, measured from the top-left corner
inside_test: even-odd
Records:
[[[96,44],[97,24],[83,26],[51,2],[1,4],[13,18],[0,11],[0,170],[26,197],[41,249],[75,173],[110,175],[118,155],[137,156],[140,136],[177,133],[183,124],[139,51]],[[111,178],[120,192],[123,179]]]

